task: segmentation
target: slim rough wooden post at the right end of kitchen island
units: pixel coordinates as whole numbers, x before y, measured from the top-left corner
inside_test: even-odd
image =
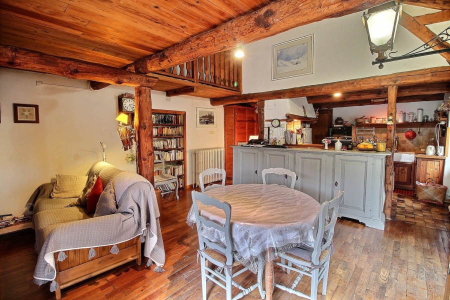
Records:
[[[393,166],[393,153],[395,146],[395,115],[397,114],[397,89],[396,85],[389,85],[387,87],[387,118],[392,117],[392,125],[387,125],[387,139],[386,148],[390,149],[391,156],[386,156],[386,172],[384,175],[384,190],[386,193],[386,200],[384,202],[384,215],[386,219],[390,220],[390,207],[392,205],[392,187],[394,182],[394,166]]]

